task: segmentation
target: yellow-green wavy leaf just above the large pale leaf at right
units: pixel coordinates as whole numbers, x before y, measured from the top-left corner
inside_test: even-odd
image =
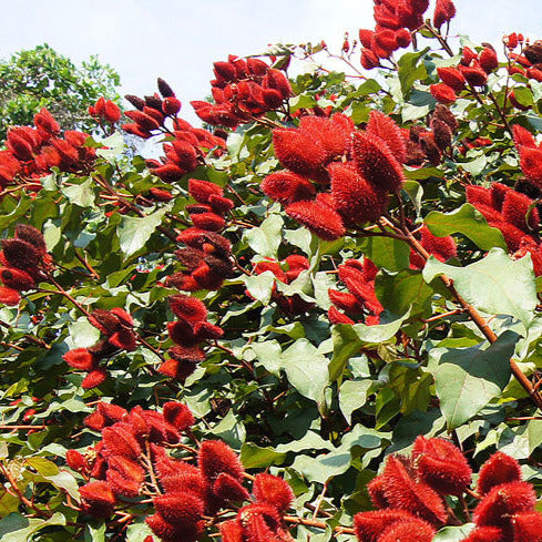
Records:
[[[482,250],[490,250],[493,247],[507,249],[501,232],[491,227],[484,216],[469,203],[451,213],[431,211],[425,223],[437,237],[460,233],[469,237]]]

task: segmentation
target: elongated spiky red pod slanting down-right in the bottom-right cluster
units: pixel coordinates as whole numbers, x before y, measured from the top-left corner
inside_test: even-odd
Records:
[[[384,494],[392,508],[407,510],[433,525],[441,525],[448,517],[439,494],[426,483],[416,482],[402,462],[388,457],[382,473]]]

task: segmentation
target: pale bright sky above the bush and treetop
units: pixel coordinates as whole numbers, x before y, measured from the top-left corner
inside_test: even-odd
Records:
[[[542,38],[540,0],[454,3],[451,32],[474,42],[498,47],[512,31]],[[165,79],[192,122],[188,102],[209,94],[213,62],[228,53],[321,39],[338,47],[345,31],[375,24],[372,0],[0,0],[0,58],[44,42],[75,63],[98,54],[120,73],[122,94],[150,94]]]

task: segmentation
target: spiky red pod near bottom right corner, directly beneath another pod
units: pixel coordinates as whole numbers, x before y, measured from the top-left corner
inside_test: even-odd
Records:
[[[536,494],[528,482],[508,482],[493,487],[474,509],[478,525],[507,525],[511,515],[531,510]]]

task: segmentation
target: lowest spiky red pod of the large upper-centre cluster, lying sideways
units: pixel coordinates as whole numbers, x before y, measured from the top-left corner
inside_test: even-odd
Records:
[[[340,215],[319,202],[290,203],[286,214],[324,241],[336,241],[346,234]]]

